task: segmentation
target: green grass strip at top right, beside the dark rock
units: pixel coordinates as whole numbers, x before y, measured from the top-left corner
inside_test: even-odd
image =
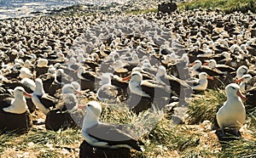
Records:
[[[241,11],[247,13],[251,10],[256,13],[256,4],[254,0],[195,0],[187,3],[178,4],[181,10],[192,10],[195,8],[218,8],[226,14]]]

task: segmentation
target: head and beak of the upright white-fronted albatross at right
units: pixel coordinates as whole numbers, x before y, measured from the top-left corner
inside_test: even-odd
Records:
[[[241,99],[245,100],[246,97],[241,94],[240,87],[236,83],[230,83],[228,86],[225,87],[226,95],[228,99],[234,99],[240,97]]]

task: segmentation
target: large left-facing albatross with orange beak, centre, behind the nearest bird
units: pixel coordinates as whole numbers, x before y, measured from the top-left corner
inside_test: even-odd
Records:
[[[152,104],[157,106],[157,109],[164,109],[166,104],[169,104],[176,93],[162,82],[154,80],[143,80],[143,75],[139,71],[132,71],[130,76],[123,78],[123,81],[130,80],[129,90],[131,92],[128,104],[131,110],[137,114],[143,110],[152,107]]]

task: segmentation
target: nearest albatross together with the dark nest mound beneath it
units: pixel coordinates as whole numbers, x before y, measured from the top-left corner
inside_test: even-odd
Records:
[[[140,145],[143,145],[143,142],[130,127],[99,121],[101,104],[90,101],[84,108],[84,142],[80,145],[80,157],[130,157],[128,155],[131,149],[142,151]]]

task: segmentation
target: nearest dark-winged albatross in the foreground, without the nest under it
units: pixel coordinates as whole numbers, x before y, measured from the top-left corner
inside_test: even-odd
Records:
[[[139,145],[143,143],[128,126],[99,121],[101,104],[90,101],[85,110],[82,136],[88,144],[107,149],[128,148],[142,151]]]

